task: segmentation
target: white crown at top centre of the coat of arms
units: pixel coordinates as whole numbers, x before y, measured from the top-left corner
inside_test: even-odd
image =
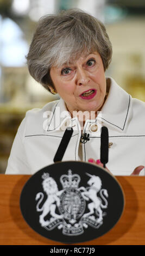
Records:
[[[67,188],[67,187],[77,188],[80,182],[80,176],[78,174],[72,174],[72,171],[68,170],[68,175],[66,174],[61,175],[60,182],[63,188]]]

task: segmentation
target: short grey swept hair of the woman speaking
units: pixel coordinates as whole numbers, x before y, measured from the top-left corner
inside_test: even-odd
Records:
[[[54,88],[52,66],[75,61],[97,51],[104,70],[111,62],[112,45],[102,22],[80,9],[45,15],[38,22],[27,58],[30,75],[47,90]]]

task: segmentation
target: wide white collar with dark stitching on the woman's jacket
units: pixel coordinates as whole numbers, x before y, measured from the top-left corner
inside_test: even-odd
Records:
[[[132,98],[112,78],[107,77],[106,82],[110,83],[109,94],[97,119],[101,119],[103,123],[114,127],[116,130],[124,131],[130,117]],[[64,100],[60,99],[56,101],[52,109],[48,131],[59,129],[67,120],[69,123],[69,120],[73,122],[74,119],[77,118],[71,118]],[[88,121],[86,120],[87,123]]]

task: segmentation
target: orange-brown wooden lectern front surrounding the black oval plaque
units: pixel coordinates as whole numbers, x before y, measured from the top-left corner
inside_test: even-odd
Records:
[[[37,234],[24,221],[20,194],[29,178],[0,174],[0,245],[65,245]],[[122,217],[105,235],[76,245],[145,245],[145,176],[116,178],[125,195]]]

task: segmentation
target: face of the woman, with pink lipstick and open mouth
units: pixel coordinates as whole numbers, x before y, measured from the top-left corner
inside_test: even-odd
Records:
[[[60,68],[52,67],[50,75],[56,92],[65,101],[71,113],[97,113],[103,106],[106,80],[103,62],[98,52],[82,56],[76,62]]]

